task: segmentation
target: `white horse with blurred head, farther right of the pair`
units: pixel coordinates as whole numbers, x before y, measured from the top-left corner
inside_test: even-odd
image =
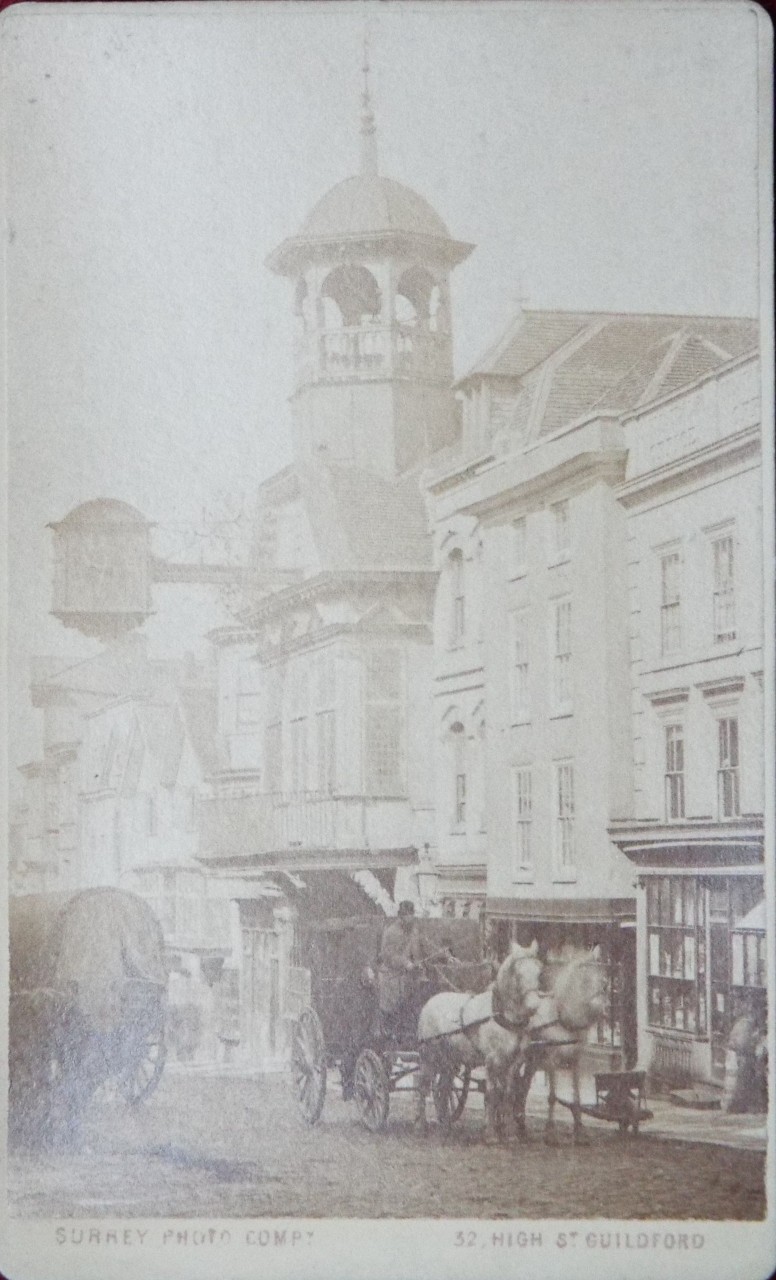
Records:
[[[604,1010],[606,972],[601,964],[601,947],[584,951],[563,947],[551,956],[542,974],[543,996],[531,1018],[529,1036],[533,1041],[511,1070],[510,1091],[515,1098],[515,1120],[519,1137],[525,1137],[525,1102],[531,1079],[543,1068],[548,1079],[547,1128],[544,1140],[554,1144],[556,1079],[560,1070],[571,1071],[574,1101],[574,1142],[586,1143],[580,1105],[581,1059],[593,1027]],[[537,1046],[537,1042],[540,1042]]]

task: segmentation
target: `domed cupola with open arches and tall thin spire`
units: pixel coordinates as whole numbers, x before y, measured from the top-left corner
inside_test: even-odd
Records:
[[[369,65],[361,169],[268,266],[295,282],[297,456],[397,475],[455,440],[449,271],[473,246],[378,173]]]

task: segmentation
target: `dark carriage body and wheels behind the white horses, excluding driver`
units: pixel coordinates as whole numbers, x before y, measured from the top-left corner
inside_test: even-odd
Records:
[[[307,1124],[319,1120],[328,1071],[338,1068],[343,1097],[355,1101],[368,1129],[383,1129],[391,1094],[416,1087],[420,1009],[437,992],[481,991],[490,978],[475,920],[417,919],[414,928],[423,960],[398,1006],[380,1007],[380,942],[387,923],[368,916],[306,927],[302,959],[310,975],[310,1004],[292,1028],[291,1070]],[[473,1087],[483,1088],[483,1082],[467,1068],[437,1073],[433,1100],[441,1123],[461,1115]]]

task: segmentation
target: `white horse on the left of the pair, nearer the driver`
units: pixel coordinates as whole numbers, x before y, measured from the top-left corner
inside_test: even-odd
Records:
[[[485,1066],[485,1140],[503,1129],[510,1068],[521,1053],[526,1028],[539,1007],[542,965],[537,942],[517,943],[485,992],[470,996],[446,991],[421,1009],[417,1023],[416,1126],[425,1129],[425,1102],[435,1076],[452,1079],[461,1068]]]

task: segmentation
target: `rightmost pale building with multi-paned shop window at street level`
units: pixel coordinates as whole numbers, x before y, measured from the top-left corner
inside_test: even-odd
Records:
[[[759,364],[625,421],[640,1057],[721,1084],[732,1023],[766,1016]],[[749,925],[747,922],[749,920]]]

